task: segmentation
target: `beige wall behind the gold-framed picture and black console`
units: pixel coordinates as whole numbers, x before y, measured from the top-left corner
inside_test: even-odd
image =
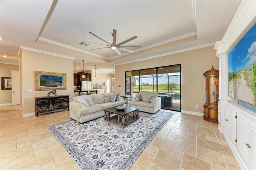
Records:
[[[32,51],[22,50],[21,64],[21,107],[22,113],[35,112],[35,97],[47,96],[50,91],[34,90],[34,71],[66,73],[67,90],[57,90],[57,95],[73,94],[73,60]],[[31,88],[32,92],[25,92]]]

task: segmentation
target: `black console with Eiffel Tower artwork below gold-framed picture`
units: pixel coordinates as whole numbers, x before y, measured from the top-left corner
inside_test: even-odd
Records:
[[[69,95],[35,97],[36,117],[38,113],[51,113],[60,109],[69,110]]]

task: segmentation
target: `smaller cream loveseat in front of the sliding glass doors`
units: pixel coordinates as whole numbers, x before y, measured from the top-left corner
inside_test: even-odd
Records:
[[[131,107],[139,108],[139,111],[145,111],[148,113],[156,113],[156,111],[161,109],[161,98],[158,97],[158,92],[139,92],[142,97],[142,101],[136,101],[135,97],[132,97]],[[155,98],[148,102],[150,96],[155,96]]]

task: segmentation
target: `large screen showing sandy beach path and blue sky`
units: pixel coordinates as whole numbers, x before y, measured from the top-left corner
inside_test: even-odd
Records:
[[[228,96],[256,106],[256,24],[228,54]]]

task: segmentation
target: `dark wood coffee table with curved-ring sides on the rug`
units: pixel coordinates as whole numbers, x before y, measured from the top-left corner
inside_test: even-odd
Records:
[[[105,121],[116,125],[118,127],[125,128],[128,125],[132,124],[134,121],[139,119],[139,108],[127,106],[126,109],[118,110],[116,107],[105,109]],[[132,113],[133,115],[128,115]],[[110,117],[110,113],[116,113]]]

